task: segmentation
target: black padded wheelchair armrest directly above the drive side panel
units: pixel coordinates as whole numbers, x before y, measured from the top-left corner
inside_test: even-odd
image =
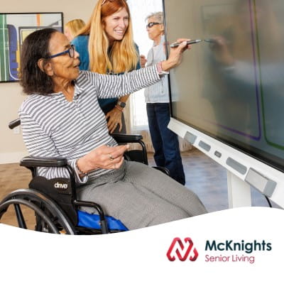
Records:
[[[24,157],[20,161],[20,165],[31,168],[31,167],[64,167],[67,165],[67,159],[65,158],[42,158],[28,156]]]

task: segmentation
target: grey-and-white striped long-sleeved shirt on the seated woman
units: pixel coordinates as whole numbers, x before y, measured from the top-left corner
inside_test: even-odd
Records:
[[[28,153],[35,157],[64,157],[75,168],[78,158],[102,145],[116,146],[109,136],[107,121],[98,99],[121,97],[148,87],[160,80],[157,67],[143,68],[125,75],[100,75],[80,71],[75,80],[72,102],[62,92],[31,94],[19,109],[23,141]],[[89,173],[92,180],[114,170],[99,168]],[[75,171],[76,172],[76,171]],[[45,178],[68,178],[65,168],[38,168]],[[81,180],[77,175],[77,182]]]

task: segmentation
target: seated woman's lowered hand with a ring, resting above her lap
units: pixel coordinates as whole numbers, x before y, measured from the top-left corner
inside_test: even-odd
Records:
[[[124,152],[129,145],[109,147],[99,146],[77,160],[77,166],[83,173],[89,173],[98,168],[119,169],[124,163]]]

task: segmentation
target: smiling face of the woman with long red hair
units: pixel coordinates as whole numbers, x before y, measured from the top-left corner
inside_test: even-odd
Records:
[[[114,40],[122,40],[128,27],[129,13],[125,8],[104,18],[104,31],[107,33],[109,43],[113,43]]]

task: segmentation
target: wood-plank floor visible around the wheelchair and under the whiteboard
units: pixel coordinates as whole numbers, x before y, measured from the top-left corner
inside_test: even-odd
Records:
[[[153,154],[148,154],[149,165],[155,165]],[[190,188],[200,197],[209,212],[228,208],[226,170],[202,152],[193,148],[182,153],[182,163],[185,168],[186,187]],[[27,188],[31,179],[29,170],[18,164],[0,165],[0,200],[9,192]],[[268,206],[266,199],[256,190],[251,190],[253,206]],[[12,216],[12,209],[4,215],[1,222],[16,224]],[[26,209],[26,214],[29,210]],[[33,219],[33,214],[28,219]]]

